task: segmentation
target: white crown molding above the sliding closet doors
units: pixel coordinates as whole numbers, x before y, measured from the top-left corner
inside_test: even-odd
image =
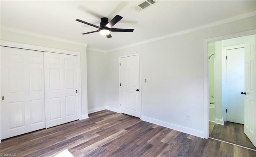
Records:
[[[8,32],[14,32],[14,33],[18,33],[18,34],[23,34],[23,35],[27,35],[27,36],[44,38],[44,39],[48,39],[48,40],[54,40],[54,41],[58,41],[58,42],[65,42],[65,43],[68,43],[68,44],[74,44],[74,45],[87,47],[87,44],[84,44],[84,43],[74,42],[74,41],[70,41],[70,40],[64,40],[64,39],[60,39],[60,38],[56,38],[56,37],[52,37],[52,36],[46,36],[46,35],[43,35],[43,34],[28,32],[28,31],[24,31],[24,30],[18,30],[18,29],[14,29],[14,28],[5,27],[5,26],[1,26],[1,30],[8,31]]]

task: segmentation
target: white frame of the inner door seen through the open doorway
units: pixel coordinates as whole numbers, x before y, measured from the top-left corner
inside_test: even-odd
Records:
[[[227,60],[225,59],[226,56],[226,50],[230,49],[236,49],[236,48],[244,48],[244,44],[239,45],[232,45],[232,46],[225,46],[222,47],[222,52],[225,51],[225,53],[222,53],[222,113],[223,113],[223,121],[227,121],[227,113],[226,113],[226,107],[227,107],[227,99],[226,99],[226,85],[227,85]]]

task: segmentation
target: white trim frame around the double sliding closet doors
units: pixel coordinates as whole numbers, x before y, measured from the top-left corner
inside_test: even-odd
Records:
[[[81,94],[82,87],[81,87],[81,54],[80,52],[61,50],[56,48],[48,48],[44,46],[35,46],[35,45],[23,44],[23,43],[17,43],[17,42],[9,42],[5,40],[0,40],[0,46],[77,56],[78,57],[78,118],[79,120],[82,119],[82,94]],[[1,60],[0,60],[0,65],[1,65]],[[1,83],[0,83],[0,95],[1,95]],[[0,101],[0,107],[1,107],[1,101]],[[1,126],[1,112],[0,112],[0,126]],[[0,143],[1,143],[1,132],[0,132]]]

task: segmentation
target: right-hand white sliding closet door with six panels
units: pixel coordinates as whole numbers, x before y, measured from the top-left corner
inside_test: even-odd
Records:
[[[78,58],[44,52],[46,128],[78,119]]]

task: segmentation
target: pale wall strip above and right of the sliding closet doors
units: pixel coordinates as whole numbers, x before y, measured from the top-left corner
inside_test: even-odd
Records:
[[[18,42],[23,44],[30,44],[36,46],[44,46],[48,48],[56,48],[61,50],[69,50],[80,52],[81,54],[81,88],[82,88],[82,116],[85,118],[88,116],[87,109],[87,63],[86,63],[86,46],[80,46],[76,44],[69,44],[66,42],[60,42],[56,40],[40,38],[25,34],[19,34],[15,32],[1,30],[1,40]],[[82,118],[83,118],[82,117]]]

